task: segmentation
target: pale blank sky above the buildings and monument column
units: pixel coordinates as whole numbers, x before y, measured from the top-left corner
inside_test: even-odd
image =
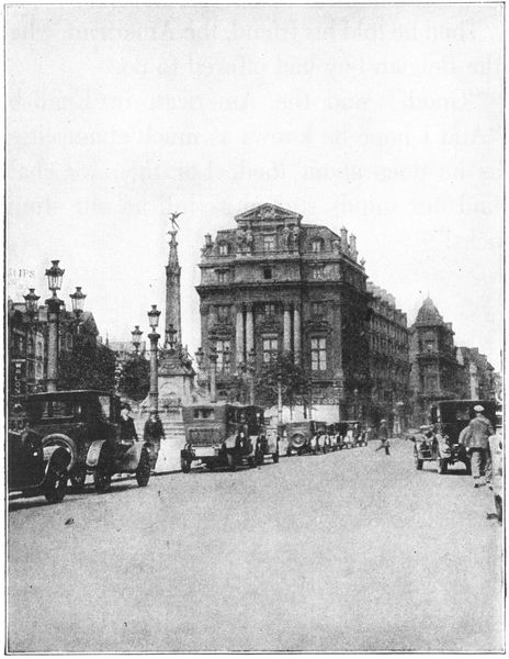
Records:
[[[146,336],[182,211],[193,354],[204,234],[271,202],[344,225],[409,324],[430,295],[499,369],[502,38],[501,3],[11,4],[9,272],[43,301],[59,259],[103,337]]]

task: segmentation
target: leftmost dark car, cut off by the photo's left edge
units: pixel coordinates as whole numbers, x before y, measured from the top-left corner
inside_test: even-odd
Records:
[[[44,494],[59,503],[67,489],[70,453],[61,446],[43,447],[43,437],[31,427],[9,431],[7,467],[9,492],[25,496]]]

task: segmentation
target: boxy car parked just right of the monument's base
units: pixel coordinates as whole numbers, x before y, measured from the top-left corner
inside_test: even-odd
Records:
[[[181,469],[191,471],[200,460],[208,469],[263,463],[264,455],[278,457],[278,436],[265,433],[263,410],[239,403],[196,403],[182,409],[185,446],[180,451]]]

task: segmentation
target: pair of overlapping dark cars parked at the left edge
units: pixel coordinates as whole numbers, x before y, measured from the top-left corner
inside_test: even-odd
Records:
[[[43,493],[53,503],[64,499],[68,480],[80,492],[90,474],[106,492],[115,473],[134,473],[146,487],[154,447],[120,438],[120,412],[118,396],[97,390],[20,399],[10,415],[9,491]]]

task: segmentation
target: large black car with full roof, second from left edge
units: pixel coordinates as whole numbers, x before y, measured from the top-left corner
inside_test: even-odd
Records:
[[[150,478],[150,445],[120,439],[118,396],[105,391],[75,390],[29,394],[30,426],[43,435],[43,447],[63,446],[70,456],[69,478],[77,491],[93,474],[105,492],[115,473],[135,473],[139,487]]]

